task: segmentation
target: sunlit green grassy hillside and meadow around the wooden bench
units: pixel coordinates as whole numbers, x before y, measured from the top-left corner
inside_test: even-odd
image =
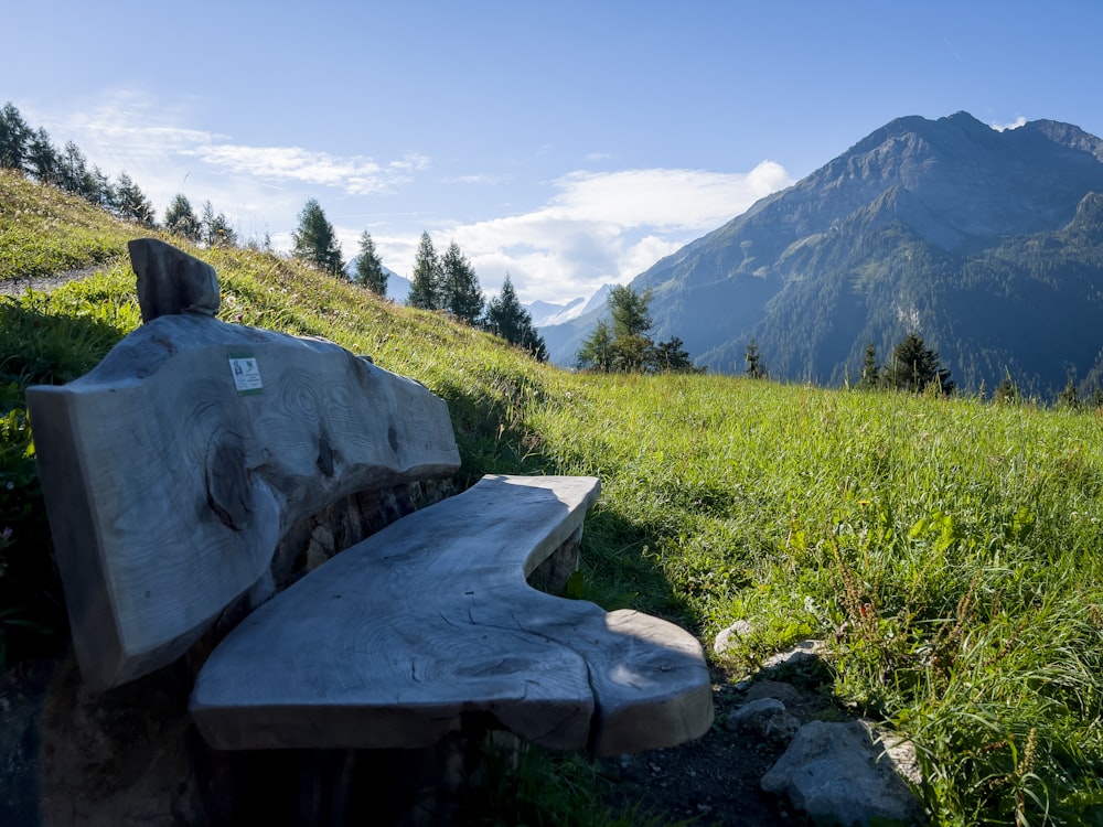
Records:
[[[12,529],[0,630],[14,654],[49,640],[15,624],[56,625],[58,599],[22,388],[79,375],[139,323],[129,237],[0,175],[3,277],[100,268],[0,298],[0,529]],[[443,397],[461,483],[601,476],[583,597],[679,621],[709,651],[750,621],[718,664],[731,680],[786,644],[826,641],[824,691],[913,739],[938,823],[1103,823],[1100,414],[580,376],[270,255],[193,253],[219,275],[223,319],[325,336]]]

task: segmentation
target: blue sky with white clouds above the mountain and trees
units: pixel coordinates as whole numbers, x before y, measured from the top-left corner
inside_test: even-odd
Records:
[[[1103,136],[1095,0],[38,2],[0,104],[290,246],[409,275],[422,230],[494,293],[561,302],[661,257],[906,115]]]

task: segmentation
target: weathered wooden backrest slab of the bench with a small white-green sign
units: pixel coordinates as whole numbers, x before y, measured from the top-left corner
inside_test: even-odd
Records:
[[[26,400],[94,688],[182,654],[297,519],[459,465],[447,406],[418,383],[206,315],[153,319],[92,373]]]

